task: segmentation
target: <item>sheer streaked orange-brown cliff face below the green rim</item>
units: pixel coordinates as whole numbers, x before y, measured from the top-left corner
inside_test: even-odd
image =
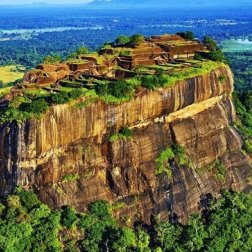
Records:
[[[251,189],[232,91],[232,74],[221,67],[172,88],[141,91],[122,105],[59,105],[41,120],[3,125],[0,195],[21,185],[51,207],[85,211],[90,202],[107,200],[120,206],[118,217],[149,222],[152,214],[165,219],[172,212],[183,222],[209,194]],[[110,143],[125,126],[132,138]],[[155,175],[157,157],[173,143],[184,147],[193,166],[173,162],[172,178]]]

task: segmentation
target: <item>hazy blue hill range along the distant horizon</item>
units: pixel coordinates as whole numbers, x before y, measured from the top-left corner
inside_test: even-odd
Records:
[[[251,0],[94,0],[89,8],[169,8],[169,7],[211,7],[252,6]]]

